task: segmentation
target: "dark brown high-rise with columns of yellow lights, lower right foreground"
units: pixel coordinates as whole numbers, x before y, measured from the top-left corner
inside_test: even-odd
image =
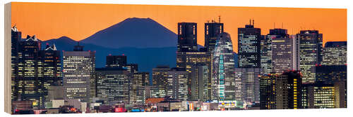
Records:
[[[260,109],[301,109],[301,74],[285,71],[260,78]]]

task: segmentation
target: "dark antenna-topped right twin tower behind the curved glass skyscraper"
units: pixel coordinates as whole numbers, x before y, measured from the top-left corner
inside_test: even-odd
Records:
[[[206,22],[205,23],[205,50],[212,52],[215,50],[217,36],[221,34],[224,30],[223,23],[215,22]]]

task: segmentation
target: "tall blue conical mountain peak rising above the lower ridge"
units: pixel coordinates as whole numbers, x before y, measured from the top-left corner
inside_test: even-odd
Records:
[[[177,34],[150,18],[128,18],[80,42],[107,48],[177,47]]]

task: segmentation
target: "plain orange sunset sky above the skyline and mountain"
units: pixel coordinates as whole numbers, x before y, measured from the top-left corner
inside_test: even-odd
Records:
[[[261,34],[276,28],[297,34],[300,29],[318,29],[323,41],[347,41],[347,9],[328,8],[263,8],[225,6],[153,6],[119,4],[11,4],[11,25],[17,25],[23,38],[35,34],[38,39],[68,36],[79,41],[126,18],[151,18],[177,32],[177,22],[198,23],[198,44],[204,43],[204,23],[217,20],[225,23],[225,32],[232,38],[237,52],[237,29],[255,20]]]

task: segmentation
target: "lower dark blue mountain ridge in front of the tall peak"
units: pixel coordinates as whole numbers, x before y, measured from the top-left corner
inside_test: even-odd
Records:
[[[73,46],[77,45],[77,41],[62,36],[59,39],[51,39],[48,41],[42,41],[42,43],[49,43],[52,45],[55,43],[57,50],[73,50]],[[43,46],[45,44],[42,44]],[[84,46],[83,50],[96,51],[95,63],[96,67],[105,67],[106,56],[112,55],[126,55],[128,63],[138,64],[139,71],[149,71],[152,73],[152,68],[156,67],[157,64],[167,64],[169,67],[175,67],[177,47],[164,47],[164,48],[106,48],[102,46],[96,46],[90,43],[80,43]]]

